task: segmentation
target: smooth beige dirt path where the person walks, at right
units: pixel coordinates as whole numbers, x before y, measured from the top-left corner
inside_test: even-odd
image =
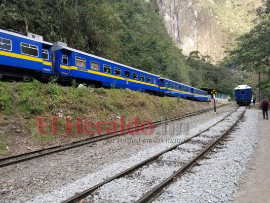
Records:
[[[250,108],[258,109],[258,105],[251,105]],[[236,203],[270,202],[270,120],[263,119],[261,110],[258,110],[258,114],[258,148],[254,159],[248,165],[247,176],[244,176],[239,184],[240,190],[236,192],[236,200],[233,201]]]

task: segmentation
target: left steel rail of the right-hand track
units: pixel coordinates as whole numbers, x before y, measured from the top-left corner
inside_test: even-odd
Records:
[[[238,107],[237,109],[239,109],[239,107]],[[126,175],[128,175],[128,174],[134,172],[134,171],[137,170],[138,168],[140,168],[140,167],[142,167],[142,166],[144,166],[144,165],[147,165],[147,164],[150,163],[150,162],[156,161],[156,160],[157,160],[161,155],[163,155],[164,153],[169,152],[169,151],[172,151],[172,150],[176,149],[178,146],[180,146],[180,145],[182,145],[182,144],[188,142],[188,141],[191,140],[192,138],[195,138],[195,137],[199,136],[200,134],[202,134],[203,132],[208,131],[210,128],[212,128],[213,126],[215,126],[215,125],[217,125],[218,123],[222,122],[222,121],[225,120],[227,117],[229,117],[230,115],[232,115],[234,112],[235,112],[235,110],[232,111],[232,112],[230,112],[225,118],[223,118],[223,119],[217,121],[216,123],[214,123],[213,125],[211,125],[211,126],[208,127],[207,129],[205,129],[205,130],[203,130],[203,131],[201,131],[201,132],[198,132],[198,133],[195,134],[194,136],[191,136],[190,138],[185,139],[184,141],[182,141],[182,142],[180,142],[180,143],[178,143],[178,144],[176,144],[176,145],[174,145],[174,146],[172,146],[172,147],[170,147],[170,148],[168,148],[168,149],[166,149],[166,150],[164,150],[164,151],[162,151],[162,152],[160,152],[160,153],[158,153],[158,154],[156,154],[156,155],[154,155],[154,156],[152,156],[152,157],[150,157],[150,158],[148,158],[148,159],[146,159],[146,160],[144,160],[144,161],[142,161],[142,162],[140,162],[140,163],[138,163],[138,164],[136,164],[136,165],[134,165],[134,166],[132,166],[132,167],[130,167],[130,168],[128,168],[127,170],[125,170],[125,171],[123,171],[123,172],[121,172],[121,173],[119,173],[119,174],[117,174],[117,175],[115,175],[115,176],[113,176],[113,177],[111,177],[111,178],[108,178],[108,179],[102,181],[101,183],[99,183],[99,184],[97,184],[97,185],[95,185],[95,186],[93,186],[93,187],[91,187],[91,188],[89,188],[89,189],[87,189],[87,190],[85,190],[85,191],[83,191],[83,192],[81,192],[81,193],[78,193],[78,194],[76,194],[76,195],[74,195],[74,196],[72,196],[72,197],[70,197],[70,198],[68,198],[68,199],[66,199],[66,200],[64,200],[64,201],[62,201],[61,203],[74,203],[74,202],[79,202],[81,199],[85,198],[86,196],[88,196],[89,194],[91,194],[92,192],[94,192],[97,188],[101,187],[102,185],[104,185],[104,184],[106,184],[106,183],[108,183],[108,182],[110,182],[110,181],[112,181],[112,180],[114,180],[114,179],[117,179],[117,178],[121,178],[121,177],[123,177],[123,176],[126,176]]]

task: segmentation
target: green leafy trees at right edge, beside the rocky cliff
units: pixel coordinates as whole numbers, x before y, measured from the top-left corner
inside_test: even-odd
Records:
[[[270,96],[270,1],[263,0],[262,6],[256,9],[256,14],[261,21],[249,32],[237,39],[236,47],[229,51],[224,63],[242,71],[247,77],[242,82],[248,85],[260,87],[262,94]],[[260,74],[260,84],[258,80],[250,80],[251,75]]]

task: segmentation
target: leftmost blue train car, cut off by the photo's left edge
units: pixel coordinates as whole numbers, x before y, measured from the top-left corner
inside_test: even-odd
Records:
[[[52,46],[41,36],[0,29],[0,79],[20,77],[29,81],[36,75],[52,76]]]

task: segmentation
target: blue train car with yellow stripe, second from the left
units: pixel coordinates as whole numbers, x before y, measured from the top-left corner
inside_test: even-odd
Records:
[[[52,48],[55,73],[63,80],[84,81],[98,86],[159,91],[159,76],[105,58],[88,54],[56,42]]]

